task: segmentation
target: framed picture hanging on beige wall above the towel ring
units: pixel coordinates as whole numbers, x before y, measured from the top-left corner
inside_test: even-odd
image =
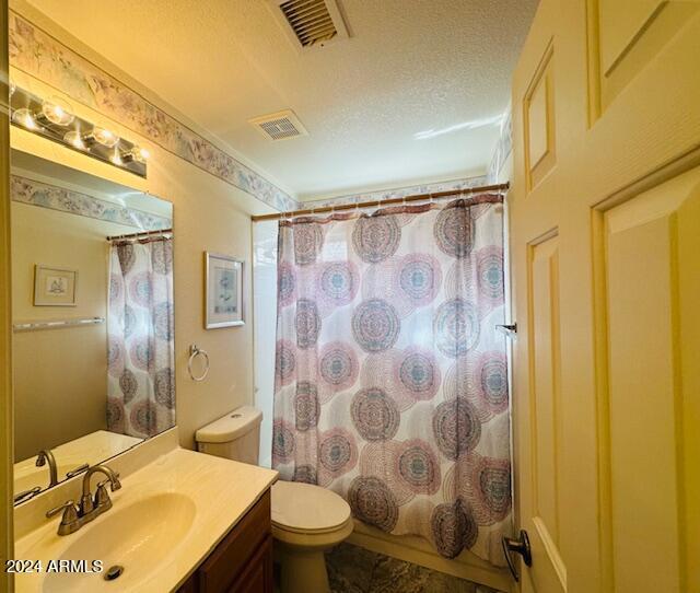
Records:
[[[206,252],[205,267],[205,327],[243,325],[243,261]]]

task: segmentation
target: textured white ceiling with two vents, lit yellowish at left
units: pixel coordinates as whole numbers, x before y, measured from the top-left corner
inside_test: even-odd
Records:
[[[483,173],[537,0],[338,0],[298,50],[267,0],[30,0],[300,198]],[[247,120],[293,109],[310,136]]]

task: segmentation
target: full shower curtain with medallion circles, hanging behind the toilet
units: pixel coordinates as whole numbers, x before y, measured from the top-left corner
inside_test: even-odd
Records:
[[[495,195],[281,221],[272,457],[447,558],[511,533]]]

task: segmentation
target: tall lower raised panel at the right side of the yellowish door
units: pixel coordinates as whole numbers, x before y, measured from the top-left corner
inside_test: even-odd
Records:
[[[669,220],[606,219],[612,573],[621,591],[678,591]]]

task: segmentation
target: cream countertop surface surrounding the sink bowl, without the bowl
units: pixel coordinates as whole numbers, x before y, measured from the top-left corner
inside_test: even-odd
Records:
[[[46,520],[40,526],[15,542],[15,558],[42,560],[44,570],[46,570],[49,560],[61,558],[79,538],[88,536],[90,531],[100,530],[101,524],[107,521],[112,513],[117,513],[121,509],[122,516],[128,523],[130,521],[129,508],[132,504],[138,505],[149,499],[154,500],[153,497],[162,495],[180,495],[176,498],[189,499],[194,503],[192,507],[187,502],[187,508],[194,509],[194,519],[186,533],[180,533],[174,538],[175,540],[168,540],[167,545],[163,546],[165,549],[159,551],[154,560],[148,561],[149,566],[139,567],[138,560],[137,566],[133,561],[131,561],[131,566],[127,566],[125,562],[124,577],[127,577],[128,573],[128,579],[121,577],[107,582],[103,580],[102,574],[91,574],[83,577],[81,583],[81,586],[89,586],[85,589],[86,591],[95,592],[103,589],[119,593],[125,591],[148,591],[149,593],[172,591],[187,579],[277,480],[277,477],[278,473],[271,469],[184,449],[174,449],[125,477],[121,480],[122,488],[110,492],[114,502],[110,510],[74,534],[66,536],[59,536],[56,533],[60,516]],[[93,484],[96,484],[98,478],[104,478],[104,476],[95,476]],[[46,509],[40,510],[40,512],[45,511]],[[39,512],[38,509],[37,512]],[[167,515],[163,515],[154,522],[154,528],[168,530]],[[107,525],[110,524],[107,523]],[[129,528],[133,527],[119,525],[119,530]],[[97,533],[104,533],[104,530]],[[151,531],[150,526],[147,531]],[[144,538],[148,538],[148,535]],[[104,568],[108,567],[109,563],[106,563]],[[75,578],[73,574],[65,578],[46,572],[18,574],[15,590],[18,592],[44,591],[46,584],[44,580],[49,577],[54,580],[57,589],[63,589],[69,584],[68,579]],[[59,581],[63,579],[66,582],[60,583]],[[51,586],[50,591],[54,589]]]

